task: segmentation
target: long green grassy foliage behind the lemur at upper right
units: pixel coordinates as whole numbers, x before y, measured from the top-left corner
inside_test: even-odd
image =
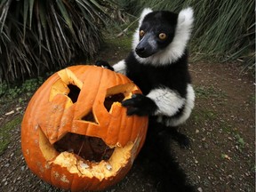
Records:
[[[245,68],[255,67],[255,3],[252,0],[119,0],[124,10],[139,14],[144,7],[180,12],[191,6],[195,12],[192,34],[194,60],[244,61]]]

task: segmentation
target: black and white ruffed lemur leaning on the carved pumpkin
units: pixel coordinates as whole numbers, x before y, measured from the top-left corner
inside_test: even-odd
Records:
[[[159,171],[160,168],[155,171],[159,175],[164,172],[163,180],[159,181],[162,183],[159,191],[192,191],[168,150],[173,133],[175,140],[186,139],[173,127],[183,124],[194,108],[195,92],[188,72],[187,49],[193,20],[191,8],[183,9],[178,14],[153,12],[146,8],[140,15],[139,28],[133,36],[132,52],[128,57],[112,67],[106,61],[96,62],[98,66],[128,76],[143,92],[132,95],[122,105],[127,108],[129,116],[149,116],[145,150],[148,148],[150,155],[146,156],[149,159],[158,161],[156,167],[159,164],[163,166],[162,171]],[[169,172],[168,177],[166,172]],[[172,187],[175,183],[177,190]]]

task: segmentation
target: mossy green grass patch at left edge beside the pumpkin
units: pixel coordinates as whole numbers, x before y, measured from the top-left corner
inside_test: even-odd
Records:
[[[11,121],[0,127],[0,156],[4,153],[4,150],[8,148],[9,143],[12,140],[12,131],[20,129],[22,116],[16,116]]]

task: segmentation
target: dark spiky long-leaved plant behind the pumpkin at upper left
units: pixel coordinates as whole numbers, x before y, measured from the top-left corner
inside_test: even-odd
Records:
[[[1,0],[0,81],[92,57],[111,6],[100,0]]]

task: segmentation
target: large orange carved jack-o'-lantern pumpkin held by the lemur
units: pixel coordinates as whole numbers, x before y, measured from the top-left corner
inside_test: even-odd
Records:
[[[142,147],[148,117],[126,116],[121,101],[140,89],[106,68],[73,66],[50,76],[28,103],[21,147],[28,167],[72,191],[122,180]]]

